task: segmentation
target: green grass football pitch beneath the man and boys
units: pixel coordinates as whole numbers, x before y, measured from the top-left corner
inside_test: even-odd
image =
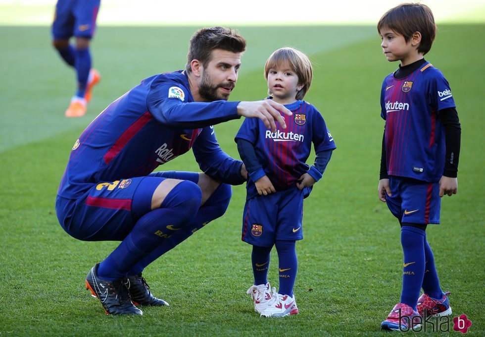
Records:
[[[168,252],[144,272],[170,307],[142,317],[106,316],[84,279],[116,242],[82,242],[57,222],[54,199],[78,135],[109,103],[149,75],[183,68],[198,27],[99,27],[93,43],[103,79],[87,116],[66,119],[74,73],[49,46],[47,27],[0,27],[0,335],[4,336],[384,336],[381,321],[399,301],[399,226],[377,198],[383,78],[397,67],[381,53],[374,26],[233,27],[248,40],[232,100],[266,94],[262,67],[291,45],[308,53],[315,79],[306,100],[330,127],[337,150],[305,202],[305,239],[295,297],[300,314],[259,318],[245,290],[251,247],[241,242],[243,186],[224,217]],[[485,335],[485,25],[438,25],[426,56],[450,82],[462,124],[459,193],[442,200],[441,225],[430,226],[453,317],[468,334]],[[143,38],[140,38],[143,37]],[[268,38],[270,37],[270,38]],[[238,158],[241,120],[216,125],[222,148]],[[197,170],[187,154],[161,169]],[[269,281],[278,284],[277,256]],[[450,329],[452,328],[452,324]],[[453,331],[450,335],[454,335]],[[458,335],[456,335],[458,336]]]

